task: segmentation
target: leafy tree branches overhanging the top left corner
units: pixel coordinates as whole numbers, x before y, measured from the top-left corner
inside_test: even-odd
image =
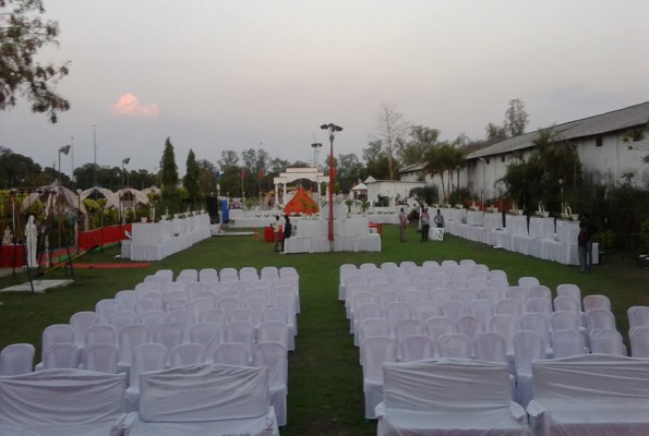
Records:
[[[68,63],[36,61],[43,48],[59,45],[59,24],[43,20],[44,13],[43,0],[0,0],[0,110],[14,107],[22,95],[33,112],[56,123],[58,112],[70,109],[55,92],[69,70]]]

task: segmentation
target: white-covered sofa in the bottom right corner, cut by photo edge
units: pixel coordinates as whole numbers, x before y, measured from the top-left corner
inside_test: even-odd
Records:
[[[649,362],[577,355],[532,364],[534,435],[649,434]]]

